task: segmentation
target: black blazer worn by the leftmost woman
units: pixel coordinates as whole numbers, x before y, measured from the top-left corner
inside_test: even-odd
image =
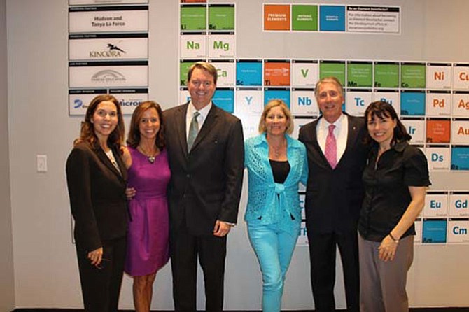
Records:
[[[78,143],[66,161],[75,240],[85,250],[127,234],[127,170],[117,148],[113,154],[122,174],[98,144]]]

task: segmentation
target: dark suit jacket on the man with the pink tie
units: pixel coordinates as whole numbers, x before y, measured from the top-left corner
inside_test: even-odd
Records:
[[[300,129],[299,139],[307,148],[309,178],[305,212],[308,231],[315,233],[349,232],[356,230],[363,201],[362,172],[367,150],[363,144],[363,118],[346,114],[349,134],[344,155],[332,169],[318,144],[318,120]]]

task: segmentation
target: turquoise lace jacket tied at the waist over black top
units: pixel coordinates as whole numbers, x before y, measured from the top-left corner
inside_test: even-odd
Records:
[[[268,225],[279,222],[288,230],[293,220],[301,222],[298,183],[306,185],[308,164],[304,144],[286,135],[290,172],[283,184],[275,183],[269,162],[265,134],[244,143],[245,166],[248,169],[248,204],[244,220]]]

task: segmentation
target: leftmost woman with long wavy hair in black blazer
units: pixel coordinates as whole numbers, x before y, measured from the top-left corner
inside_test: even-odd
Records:
[[[109,94],[94,97],[66,162],[86,311],[118,310],[128,218],[123,138],[118,100]]]

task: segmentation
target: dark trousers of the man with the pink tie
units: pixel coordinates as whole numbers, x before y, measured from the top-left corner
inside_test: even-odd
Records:
[[[308,231],[307,234],[315,311],[335,311],[336,246],[339,247],[344,271],[347,311],[360,311],[357,232],[318,234]]]

